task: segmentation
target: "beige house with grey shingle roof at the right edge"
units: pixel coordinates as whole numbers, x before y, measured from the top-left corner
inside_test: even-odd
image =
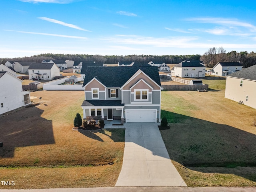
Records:
[[[256,109],[256,65],[226,76],[225,98]]]

